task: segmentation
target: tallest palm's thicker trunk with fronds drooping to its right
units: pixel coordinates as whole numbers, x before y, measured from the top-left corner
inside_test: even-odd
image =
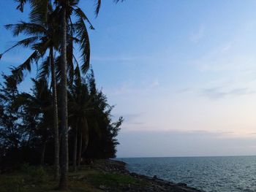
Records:
[[[114,0],[118,2],[119,0]],[[121,0],[122,1],[122,0]],[[61,165],[61,180],[59,183],[59,188],[62,190],[67,190],[67,172],[68,172],[68,123],[67,123],[67,23],[71,22],[71,15],[75,12],[75,16],[78,21],[74,24],[75,32],[78,33],[80,38],[80,49],[82,50],[82,72],[86,72],[89,68],[90,61],[90,44],[89,36],[86,29],[87,21],[90,28],[93,29],[91,23],[89,22],[86,14],[78,7],[79,0],[56,0],[56,2],[61,7],[61,128],[63,131],[62,137],[62,165]],[[101,6],[101,0],[96,0],[95,14],[99,14],[99,9]],[[72,25],[72,23],[70,23]],[[73,28],[73,27],[72,27]]]

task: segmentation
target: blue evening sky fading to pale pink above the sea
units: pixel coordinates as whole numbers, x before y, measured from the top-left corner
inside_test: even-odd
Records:
[[[0,1],[0,53],[13,39],[4,24],[27,20]],[[256,1],[80,1],[93,23],[97,87],[124,117],[124,157],[256,155]],[[23,61],[17,49],[0,71]],[[20,85],[29,90],[29,77]]]

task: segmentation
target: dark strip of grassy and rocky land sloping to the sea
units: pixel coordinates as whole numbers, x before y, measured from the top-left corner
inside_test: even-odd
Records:
[[[98,159],[88,163],[82,164],[77,172],[70,170],[70,192],[203,192],[186,183],[129,172],[123,161]],[[53,177],[53,166],[24,165],[15,171],[1,173],[0,186],[3,192],[53,192],[58,182]]]

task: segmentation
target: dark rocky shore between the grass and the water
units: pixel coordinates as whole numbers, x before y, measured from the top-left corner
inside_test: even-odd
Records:
[[[203,192],[196,188],[187,186],[186,183],[172,183],[166,180],[162,180],[154,177],[148,177],[142,174],[136,174],[129,172],[126,168],[126,164],[122,161],[95,161],[91,164],[92,168],[100,169],[103,172],[111,172],[122,175],[127,175],[136,180],[136,182],[121,184],[121,185],[99,185],[99,188],[103,191],[146,191],[146,192],[160,192],[160,191],[171,191],[171,192]]]

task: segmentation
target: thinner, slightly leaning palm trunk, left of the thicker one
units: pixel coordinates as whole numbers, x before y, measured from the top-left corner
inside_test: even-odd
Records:
[[[57,86],[55,64],[53,57],[53,47],[50,47],[50,72],[51,82],[53,87],[53,128],[54,128],[54,177],[59,180],[59,118],[58,118],[58,101],[57,101]]]

